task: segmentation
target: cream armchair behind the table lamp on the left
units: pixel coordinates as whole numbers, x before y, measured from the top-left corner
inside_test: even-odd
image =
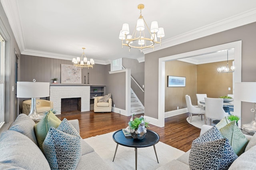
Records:
[[[53,109],[53,102],[43,99],[36,99],[36,110],[38,113],[44,113]],[[22,112],[26,115],[30,113],[31,110],[31,100],[25,100],[22,103]]]

